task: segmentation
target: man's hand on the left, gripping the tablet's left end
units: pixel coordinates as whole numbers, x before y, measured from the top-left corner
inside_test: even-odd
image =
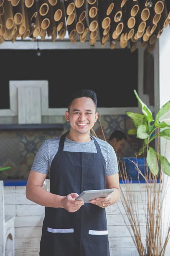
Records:
[[[78,194],[71,193],[65,196],[61,201],[62,208],[66,209],[68,212],[77,212],[80,207],[84,204],[82,200],[75,200],[78,197]]]

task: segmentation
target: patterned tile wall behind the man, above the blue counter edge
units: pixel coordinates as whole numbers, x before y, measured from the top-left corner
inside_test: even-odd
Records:
[[[63,117],[64,131],[15,131],[0,132],[0,166],[12,168],[0,173],[0,179],[26,179],[34,161],[35,154],[45,140],[64,134],[70,129],[69,122]],[[96,136],[104,140],[102,128],[108,140],[111,132],[121,130],[127,134],[133,122],[126,115],[99,116],[94,125]],[[135,138],[126,142],[123,156],[133,156],[138,147]],[[135,148],[136,143],[136,148]]]

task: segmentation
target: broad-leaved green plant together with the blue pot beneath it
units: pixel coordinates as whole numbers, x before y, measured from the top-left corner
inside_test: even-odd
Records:
[[[142,114],[127,111],[126,114],[132,119],[135,125],[136,137],[141,139],[143,143],[139,152],[136,153],[136,157],[122,158],[122,163],[126,168],[126,174],[133,180],[138,179],[139,172],[134,165],[134,163],[137,163],[143,175],[148,170],[153,175],[158,175],[161,163],[164,163],[163,171],[170,176],[170,163],[165,157],[161,156],[161,154],[156,153],[156,151],[150,146],[150,143],[156,138],[164,137],[167,140],[170,140],[170,101],[160,108],[154,120],[152,112],[139,98],[136,90],[134,90],[134,93],[142,109]],[[159,128],[165,129],[159,132]],[[156,130],[157,133],[155,133]],[[131,134],[132,132],[134,134],[134,130],[129,130],[128,134]],[[159,165],[156,164],[157,160],[159,160]]]

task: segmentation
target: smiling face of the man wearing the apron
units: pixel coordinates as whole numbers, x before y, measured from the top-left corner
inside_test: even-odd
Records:
[[[74,99],[71,103],[69,113],[65,112],[67,121],[70,122],[71,129],[79,134],[90,133],[94,123],[98,118],[94,102],[91,98],[82,97]]]

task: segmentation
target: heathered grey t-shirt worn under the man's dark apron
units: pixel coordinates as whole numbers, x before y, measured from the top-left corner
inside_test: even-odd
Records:
[[[34,158],[34,163],[31,167],[32,171],[49,174],[52,160],[59,148],[60,138],[61,136],[58,136],[50,140],[45,140]],[[95,139],[99,143],[103,157],[106,161],[105,175],[118,173],[117,157],[113,147],[105,140],[100,140],[99,138]],[[64,151],[97,153],[94,140],[87,143],[81,143],[69,140],[67,137],[65,137]]]

